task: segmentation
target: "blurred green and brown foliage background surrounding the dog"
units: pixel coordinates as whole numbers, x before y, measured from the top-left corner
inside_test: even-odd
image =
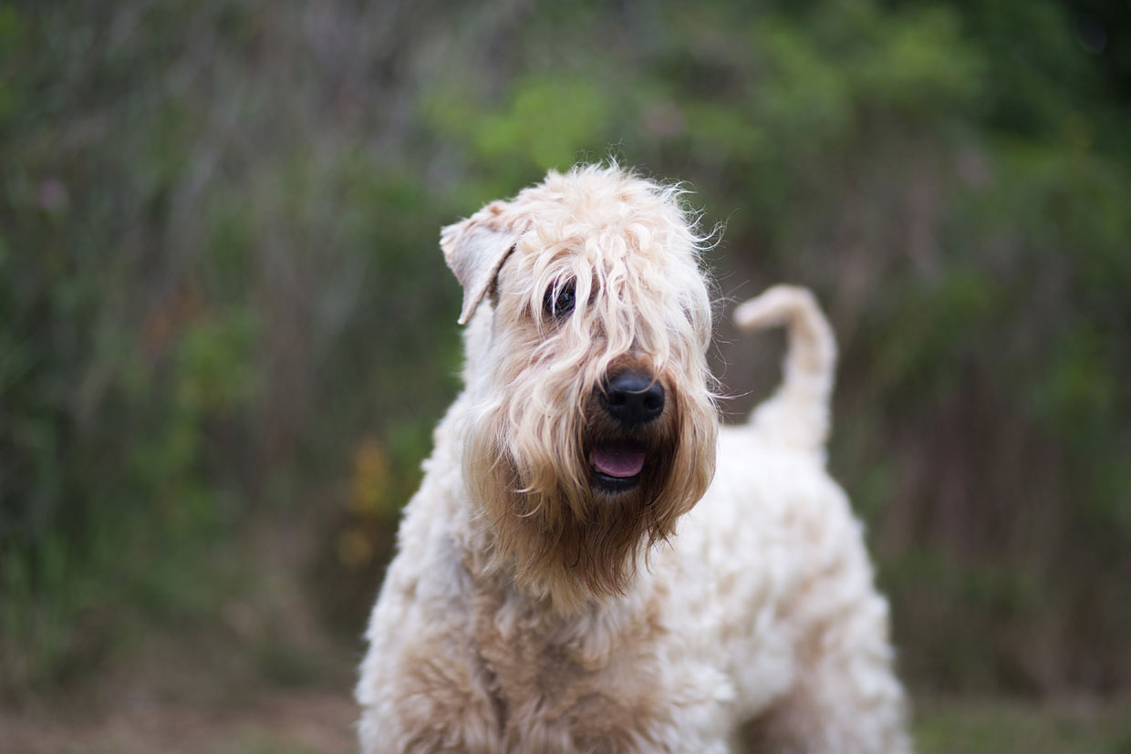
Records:
[[[0,751],[346,752],[438,229],[683,180],[811,286],[924,752],[1131,752],[1131,6],[0,2]]]

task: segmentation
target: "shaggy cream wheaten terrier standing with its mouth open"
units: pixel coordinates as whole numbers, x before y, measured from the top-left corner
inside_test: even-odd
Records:
[[[788,327],[785,380],[719,428],[680,194],[578,167],[444,228],[466,388],[369,626],[365,752],[909,749],[824,470],[832,333],[803,289],[740,306]]]

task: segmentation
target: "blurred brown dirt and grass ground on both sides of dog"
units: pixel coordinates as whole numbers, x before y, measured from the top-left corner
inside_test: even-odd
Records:
[[[122,697],[64,707],[0,710],[0,754],[357,751],[347,688],[264,690],[227,703]],[[1129,754],[1131,704],[930,700],[916,704],[915,738],[921,754]]]

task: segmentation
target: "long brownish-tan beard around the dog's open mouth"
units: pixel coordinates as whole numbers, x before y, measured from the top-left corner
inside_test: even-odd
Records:
[[[469,422],[464,471],[482,506],[489,567],[563,613],[623,593],[714,475],[713,404],[706,392],[698,401],[670,395],[664,414],[636,431],[607,417],[595,396],[584,410],[547,415],[500,404]],[[610,488],[593,454],[619,442],[645,461],[633,484]]]

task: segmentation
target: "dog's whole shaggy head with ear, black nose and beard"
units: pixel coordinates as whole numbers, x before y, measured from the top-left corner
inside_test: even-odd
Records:
[[[563,610],[621,590],[715,463],[710,300],[679,192],[585,167],[444,229],[464,471],[495,561]],[[482,303],[481,303],[482,302]]]

